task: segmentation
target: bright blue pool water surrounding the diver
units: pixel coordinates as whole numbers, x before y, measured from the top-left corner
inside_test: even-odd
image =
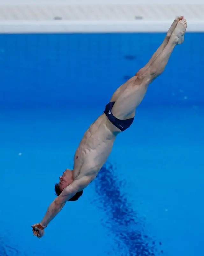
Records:
[[[164,34],[0,35],[0,255],[202,255],[204,34],[188,33],[78,202],[59,175]],[[20,153],[20,154],[19,154]]]

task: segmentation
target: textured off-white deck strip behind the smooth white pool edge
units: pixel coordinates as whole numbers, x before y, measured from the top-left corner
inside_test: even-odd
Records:
[[[0,21],[203,20],[204,4],[0,4]]]

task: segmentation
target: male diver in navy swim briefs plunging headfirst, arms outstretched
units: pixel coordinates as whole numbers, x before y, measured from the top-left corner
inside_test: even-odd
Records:
[[[149,84],[164,71],[174,47],[183,43],[186,28],[183,16],[174,20],[164,42],[147,65],[116,90],[104,113],[85,132],[74,156],[74,169],[63,172],[59,183],[55,184],[58,197],[50,204],[43,220],[32,226],[34,236],[41,238],[44,229],[66,202],[78,200],[83,189],[96,178],[117,135],[132,124],[135,109],[144,98]]]

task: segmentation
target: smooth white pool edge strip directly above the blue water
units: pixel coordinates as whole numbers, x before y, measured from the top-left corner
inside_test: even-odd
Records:
[[[166,21],[1,21],[1,34],[19,33],[114,33],[166,32],[172,20]],[[188,20],[187,32],[204,32],[204,20]]]

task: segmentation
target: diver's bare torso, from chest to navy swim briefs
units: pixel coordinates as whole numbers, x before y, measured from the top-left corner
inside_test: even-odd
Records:
[[[74,179],[84,175],[97,176],[111,153],[119,130],[101,115],[85,132],[74,156]],[[118,128],[116,128],[118,129]]]

